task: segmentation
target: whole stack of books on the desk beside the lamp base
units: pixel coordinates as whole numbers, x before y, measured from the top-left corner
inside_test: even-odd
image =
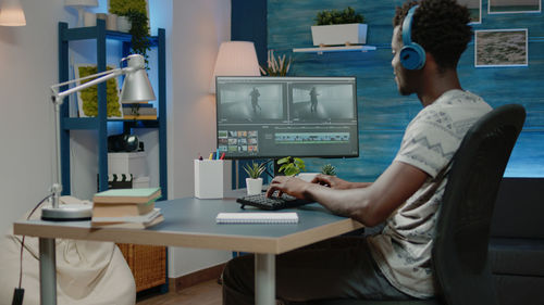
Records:
[[[95,228],[147,228],[164,220],[154,202],[160,188],[114,189],[96,193],[92,198]]]

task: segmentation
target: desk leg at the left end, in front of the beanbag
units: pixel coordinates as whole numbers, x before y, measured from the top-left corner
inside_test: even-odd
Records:
[[[57,252],[54,239],[39,239],[39,293],[41,305],[57,305]]]

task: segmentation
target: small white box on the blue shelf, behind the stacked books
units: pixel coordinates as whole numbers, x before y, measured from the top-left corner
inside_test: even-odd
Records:
[[[109,174],[133,174],[134,178],[149,176],[146,152],[108,153]]]

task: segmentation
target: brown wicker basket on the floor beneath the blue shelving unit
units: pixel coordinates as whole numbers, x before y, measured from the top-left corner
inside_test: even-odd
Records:
[[[131,267],[136,292],[166,283],[166,247],[118,243]]]

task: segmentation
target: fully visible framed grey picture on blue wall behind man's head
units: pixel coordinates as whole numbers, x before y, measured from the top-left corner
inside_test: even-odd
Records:
[[[474,45],[477,67],[527,66],[529,64],[527,28],[475,30]]]

